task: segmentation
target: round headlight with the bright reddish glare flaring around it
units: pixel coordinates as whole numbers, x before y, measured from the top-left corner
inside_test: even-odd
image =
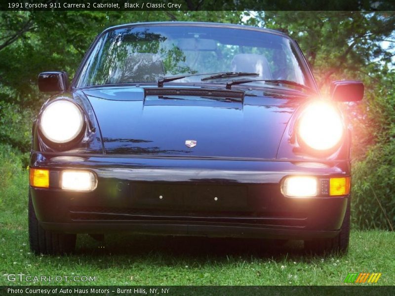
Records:
[[[343,120],[334,106],[325,102],[314,102],[302,113],[298,135],[309,147],[328,150],[340,142],[343,129]]]

